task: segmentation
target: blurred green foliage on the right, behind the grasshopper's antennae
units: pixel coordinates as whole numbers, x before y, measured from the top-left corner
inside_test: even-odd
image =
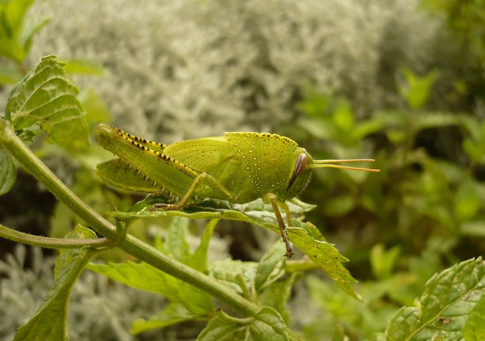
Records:
[[[287,132],[310,152],[319,151],[317,159],[373,157],[382,170],[380,177],[315,172],[302,195],[318,203],[308,219],[326,226],[325,237],[352,255],[350,269],[363,279],[359,289],[367,300],[350,302],[335,286],[307,278],[323,311],[304,328],[308,340],[386,339],[371,335],[397,307],[415,306],[430,276],[485,252],[482,98],[469,105],[478,106],[475,113],[430,111],[428,99],[442,81],[436,69],[424,76],[402,69],[396,79],[407,108],[365,120],[356,120],[346,98],[307,82],[297,104],[303,115]],[[400,327],[388,328],[388,340],[401,340]]]

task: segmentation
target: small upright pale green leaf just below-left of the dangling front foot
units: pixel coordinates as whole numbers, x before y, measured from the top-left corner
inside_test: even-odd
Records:
[[[260,292],[283,276],[285,274],[285,264],[286,258],[281,257],[281,244],[275,243],[258,263],[254,280],[256,292]]]

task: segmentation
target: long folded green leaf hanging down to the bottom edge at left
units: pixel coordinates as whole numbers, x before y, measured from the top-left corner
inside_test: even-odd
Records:
[[[91,238],[94,232],[77,226],[66,238]],[[94,237],[96,237],[94,235]],[[18,328],[14,341],[67,340],[67,305],[72,288],[84,267],[100,251],[90,246],[63,250],[56,262],[55,280],[44,303],[32,319]]]

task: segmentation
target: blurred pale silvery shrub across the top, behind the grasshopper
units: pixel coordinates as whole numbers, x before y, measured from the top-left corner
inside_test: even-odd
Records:
[[[348,97],[356,114],[396,103],[395,73],[420,71],[441,25],[419,0],[39,1],[51,23],[31,61],[88,58],[78,80],[115,124],[163,142],[291,123],[301,85]]]

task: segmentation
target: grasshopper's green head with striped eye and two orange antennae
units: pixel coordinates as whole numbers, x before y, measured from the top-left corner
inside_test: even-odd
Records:
[[[308,182],[310,182],[312,170],[314,168],[338,168],[357,170],[365,172],[380,172],[379,169],[351,167],[334,163],[341,162],[373,162],[372,159],[350,159],[350,160],[313,160],[304,148],[296,148],[291,157],[293,161],[289,177],[286,182],[286,190],[278,195],[281,199],[290,199],[300,194]],[[283,198],[284,197],[284,198]]]

